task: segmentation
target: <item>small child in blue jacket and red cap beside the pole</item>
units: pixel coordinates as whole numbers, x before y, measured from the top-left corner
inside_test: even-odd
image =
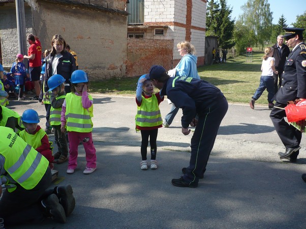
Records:
[[[13,63],[13,66],[11,68],[11,73],[14,74],[15,78],[15,84],[19,86],[19,91],[18,91],[18,100],[24,100],[23,98],[23,90],[24,90],[24,83],[25,83],[25,78],[26,78],[26,69],[25,65],[22,62],[23,60],[23,55],[22,54],[17,54],[16,55],[16,62]]]

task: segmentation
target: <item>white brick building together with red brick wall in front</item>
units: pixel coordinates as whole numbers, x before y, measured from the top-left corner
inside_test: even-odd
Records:
[[[197,64],[204,65],[206,2],[129,0],[127,75],[146,73],[152,64],[174,68],[181,58],[176,48],[181,41],[195,46]]]

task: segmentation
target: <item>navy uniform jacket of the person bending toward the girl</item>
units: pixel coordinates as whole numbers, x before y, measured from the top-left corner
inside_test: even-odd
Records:
[[[170,77],[160,93],[167,95],[175,107],[182,109],[181,125],[184,128],[188,128],[197,114],[204,114],[207,108],[218,104],[218,99],[224,96],[212,84],[185,76]]]

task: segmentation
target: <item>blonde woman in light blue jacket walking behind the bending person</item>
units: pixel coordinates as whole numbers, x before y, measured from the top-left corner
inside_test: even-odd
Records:
[[[173,70],[169,71],[171,73],[168,72],[168,74],[172,74],[173,76],[187,76],[195,79],[200,79],[200,76],[197,71],[198,57],[195,56],[195,47],[188,41],[179,42],[176,47],[178,49],[179,55],[181,55],[182,58],[178,62],[177,66]],[[173,118],[177,114],[178,110],[179,108],[175,107],[174,104],[172,104],[170,112],[163,120],[163,124],[166,128],[171,125]]]

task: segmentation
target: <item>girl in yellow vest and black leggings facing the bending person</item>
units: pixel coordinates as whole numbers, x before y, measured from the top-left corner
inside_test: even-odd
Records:
[[[147,74],[148,75],[148,74]],[[158,128],[162,127],[162,116],[159,104],[164,100],[160,93],[154,93],[152,82],[148,76],[142,75],[138,79],[136,89],[137,114],[135,117],[136,131],[141,132],[141,158],[140,169],[147,170],[147,147],[150,139],[151,163],[150,169],[157,169],[157,134]]]

